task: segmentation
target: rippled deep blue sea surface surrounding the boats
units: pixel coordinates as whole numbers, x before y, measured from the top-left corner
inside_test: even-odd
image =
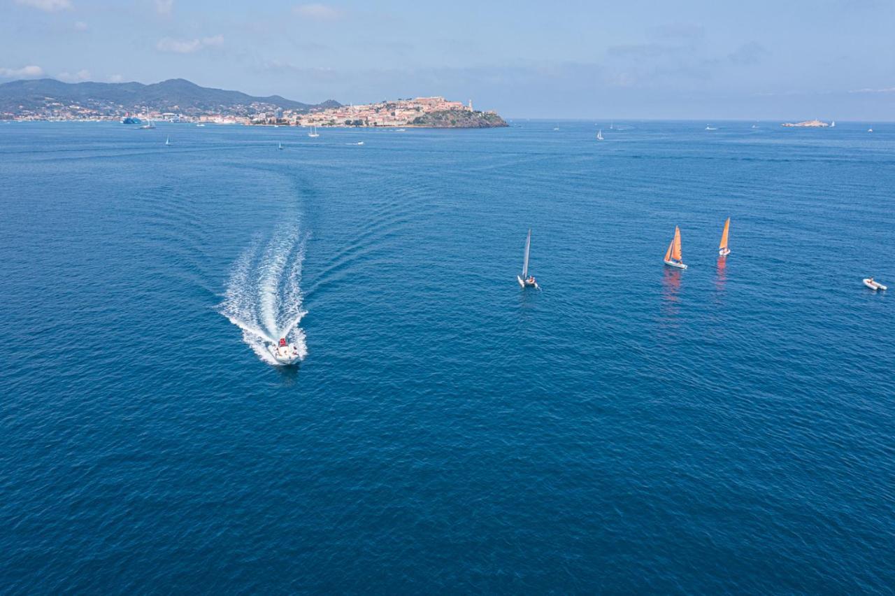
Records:
[[[891,593],[895,127],[598,124],[0,124],[0,592]]]

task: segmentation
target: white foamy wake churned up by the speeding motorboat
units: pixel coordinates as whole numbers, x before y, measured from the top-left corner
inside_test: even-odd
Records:
[[[243,251],[227,281],[220,312],[268,364],[279,364],[267,345],[280,337],[298,348],[300,360],[308,353],[298,326],[307,314],[301,287],[305,240],[298,226],[280,226],[266,245],[257,239]]]

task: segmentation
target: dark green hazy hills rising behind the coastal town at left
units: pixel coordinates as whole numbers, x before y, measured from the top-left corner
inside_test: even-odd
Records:
[[[0,114],[41,112],[59,104],[85,106],[110,114],[155,110],[184,115],[251,113],[277,107],[307,112],[316,108],[340,106],[332,99],[321,104],[305,104],[278,95],[254,97],[240,91],[200,87],[183,79],[171,79],[151,85],[139,82],[65,83],[53,79],[0,84]]]

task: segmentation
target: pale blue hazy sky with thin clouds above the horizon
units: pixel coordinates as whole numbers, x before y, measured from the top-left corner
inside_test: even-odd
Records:
[[[0,0],[0,82],[183,78],[510,118],[895,120],[895,0]]]

